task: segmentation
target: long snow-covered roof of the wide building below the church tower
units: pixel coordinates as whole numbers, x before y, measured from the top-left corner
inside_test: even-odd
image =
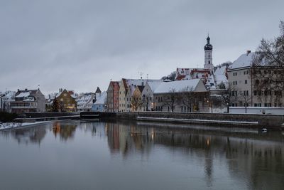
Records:
[[[178,93],[187,89],[190,90],[191,88],[192,90],[195,91],[199,83],[202,83],[201,79],[175,80],[173,82],[163,82],[160,83],[158,88],[155,89],[154,93],[155,94],[169,93],[171,90],[175,90],[175,92]],[[206,88],[204,87],[203,90],[206,91]]]

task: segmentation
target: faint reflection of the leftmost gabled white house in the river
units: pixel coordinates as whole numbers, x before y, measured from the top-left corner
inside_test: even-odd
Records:
[[[32,127],[12,131],[12,136],[17,139],[18,143],[38,143],[45,137],[45,127]]]

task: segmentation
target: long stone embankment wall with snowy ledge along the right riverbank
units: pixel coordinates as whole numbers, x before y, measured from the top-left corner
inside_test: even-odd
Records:
[[[153,122],[199,123],[219,126],[271,127],[284,129],[284,115],[219,114],[188,112],[100,112],[99,117]]]

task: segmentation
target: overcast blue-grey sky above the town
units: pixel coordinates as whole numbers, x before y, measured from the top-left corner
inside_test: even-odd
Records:
[[[0,91],[107,90],[121,78],[158,79],[255,51],[278,36],[284,1],[0,1]]]

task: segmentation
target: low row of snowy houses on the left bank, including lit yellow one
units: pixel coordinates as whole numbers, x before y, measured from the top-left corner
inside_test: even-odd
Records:
[[[102,105],[102,92],[97,88],[95,93],[77,94],[74,90],[59,89],[58,93],[51,93],[47,97],[37,90],[17,90],[0,93],[0,111],[15,112],[77,112],[90,111],[92,107]],[[105,92],[103,93],[105,96]],[[100,100],[100,102],[97,102]],[[104,109],[101,109],[104,110]]]

